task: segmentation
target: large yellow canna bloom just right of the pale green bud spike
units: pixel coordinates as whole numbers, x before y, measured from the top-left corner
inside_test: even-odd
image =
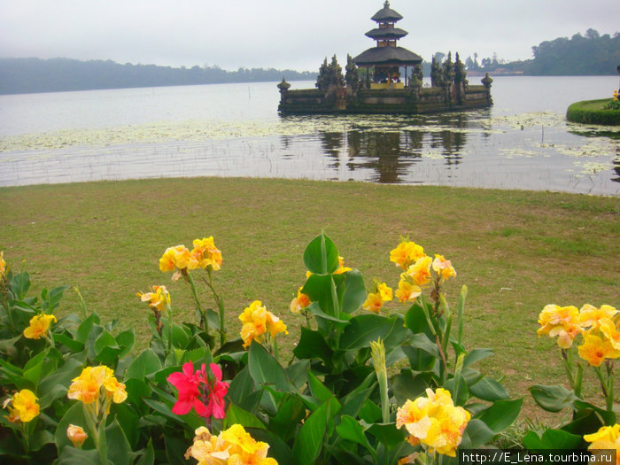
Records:
[[[399,407],[396,427],[405,426],[410,435],[407,441],[413,446],[422,444],[429,453],[455,457],[471,415],[464,408],[455,407],[450,392],[445,389],[427,389],[426,395],[407,400]]]

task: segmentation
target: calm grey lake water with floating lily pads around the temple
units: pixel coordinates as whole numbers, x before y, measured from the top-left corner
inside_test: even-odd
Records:
[[[620,197],[620,128],[564,119],[616,76],[498,77],[492,108],[414,117],[281,117],[275,85],[0,96],[0,186],[253,176]]]

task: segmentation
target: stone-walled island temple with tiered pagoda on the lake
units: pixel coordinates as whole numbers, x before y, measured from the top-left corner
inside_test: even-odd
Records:
[[[278,84],[278,111],[291,113],[404,113],[461,111],[492,105],[488,74],[480,85],[469,85],[465,66],[456,53],[453,61],[433,58],[430,87],[422,86],[422,58],[400,47],[407,31],[396,27],[403,17],[385,0],[384,7],[371,18],[376,27],[366,35],[376,41],[372,47],[347,57],[345,75],[334,56],[323,62],[316,89],[294,89],[285,79]],[[404,75],[400,72],[404,68]],[[409,75],[411,69],[411,75]]]

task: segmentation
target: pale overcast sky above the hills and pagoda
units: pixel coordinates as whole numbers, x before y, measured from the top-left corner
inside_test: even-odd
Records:
[[[160,66],[291,68],[342,63],[384,0],[0,0],[0,57],[112,59]],[[436,51],[479,60],[532,58],[531,47],[588,28],[620,32],[620,0],[391,0],[427,61]]]

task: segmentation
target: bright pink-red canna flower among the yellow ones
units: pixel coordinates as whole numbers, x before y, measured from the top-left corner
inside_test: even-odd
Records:
[[[188,361],[182,372],[172,373],[168,382],[179,391],[179,399],[172,407],[176,415],[188,414],[193,407],[196,413],[205,418],[224,418],[224,396],[229,391],[229,384],[221,381],[221,368],[215,363],[206,371],[203,363],[201,369],[194,372],[194,364]]]

